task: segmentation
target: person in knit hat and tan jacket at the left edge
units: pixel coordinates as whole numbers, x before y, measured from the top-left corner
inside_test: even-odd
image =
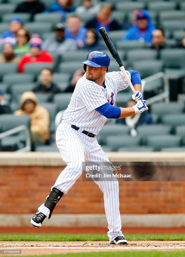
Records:
[[[18,64],[20,60],[21,57],[14,54],[14,44],[12,44],[11,41],[9,42],[7,38],[3,44],[3,53],[0,55],[0,63],[13,62]]]

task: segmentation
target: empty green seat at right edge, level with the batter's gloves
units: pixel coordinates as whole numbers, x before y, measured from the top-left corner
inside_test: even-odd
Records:
[[[179,102],[154,103],[150,106],[150,112],[159,116],[167,114],[180,114],[184,111],[184,104]]]

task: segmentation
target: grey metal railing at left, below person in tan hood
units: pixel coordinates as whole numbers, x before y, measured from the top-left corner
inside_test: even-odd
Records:
[[[25,125],[21,125],[15,128],[12,128],[10,130],[7,130],[5,132],[0,133],[0,139],[6,136],[10,136],[13,134],[16,134],[18,132],[25,131],[26,134],[26,146],[17,150],[16,152],[29,152],[31,151],[31,140],[30,140],[30,133],[28,128]]]

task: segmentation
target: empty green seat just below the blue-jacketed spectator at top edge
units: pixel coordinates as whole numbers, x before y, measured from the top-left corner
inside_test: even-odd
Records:
[[[51,22],[53,26],[61,22],[62,18],[61,13],[37,13],[34,15],[35,22]]]

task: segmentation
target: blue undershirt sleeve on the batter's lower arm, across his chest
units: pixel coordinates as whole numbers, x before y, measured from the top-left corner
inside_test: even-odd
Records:
[[[121,115],[121,109],[110,105],[108,102],[95,109],[108,119],[118,119]]]

